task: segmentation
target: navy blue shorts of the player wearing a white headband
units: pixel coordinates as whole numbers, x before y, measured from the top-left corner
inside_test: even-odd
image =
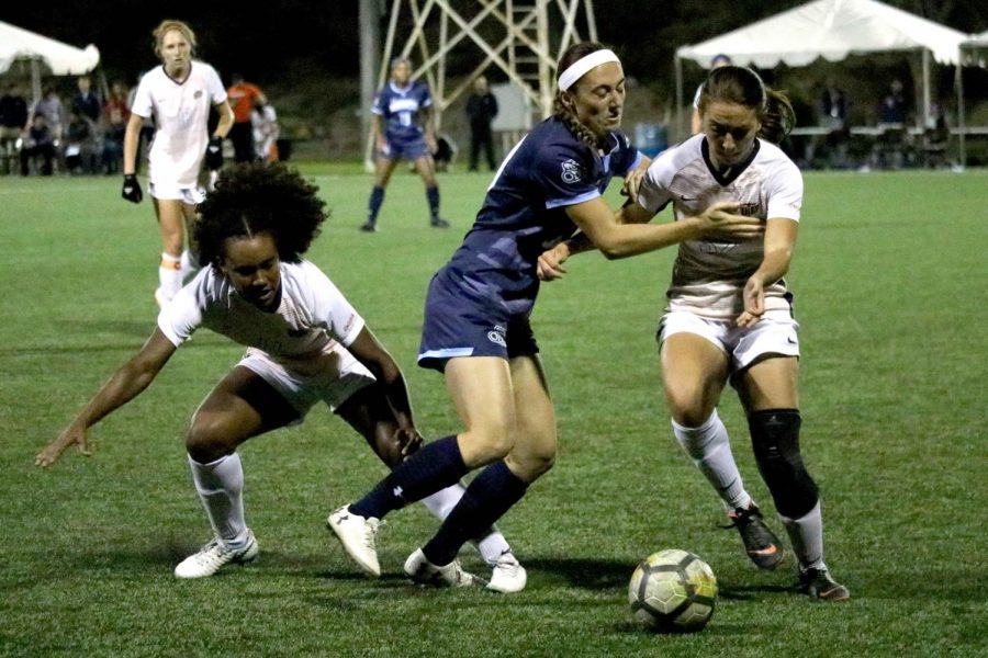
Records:
[[[442,372],[456,356],[534,356],[539,353],[528,316],[467,296],[434,276],[426,295],[418,365]]]

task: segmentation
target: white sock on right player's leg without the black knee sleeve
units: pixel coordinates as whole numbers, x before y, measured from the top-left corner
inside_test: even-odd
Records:
[[[751,496],[744,490],[741,472],[738,470],[738,464],[731,452],[727,428],[717,415],[717,409],[714,409],[710,418],[698,428],[687,428],[675,420],[672,421],[672,426],[676,441],[693,458],[693,463],[706,476],[707,481],[714,485],[725,508],[728,511],[748,509]]]

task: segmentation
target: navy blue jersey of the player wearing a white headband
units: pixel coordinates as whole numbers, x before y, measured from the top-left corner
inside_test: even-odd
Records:
[[[602,156],[555,117],[537,125],[505,158],[473,228],[437,276],[509,315],[529,314],[539,254],[576,231],[566,206],[600,196],[641,160],[624,134],[611,133],[609,143]]]

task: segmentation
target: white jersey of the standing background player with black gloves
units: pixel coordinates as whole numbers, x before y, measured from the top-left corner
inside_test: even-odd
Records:
[[[210,140],[210,107],[226,100],[218,73],[203,61],[192,61],[183,82],[165,73],[165,67],[141,78],[131,112],[155,120],[157,131],[148,155],[150,182],[166,188],[194,188]]]

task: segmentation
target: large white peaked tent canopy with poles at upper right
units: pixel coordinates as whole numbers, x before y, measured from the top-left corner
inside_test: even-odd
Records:
[[[968,35],[877,0],[813,0],[700,44],[676,49],[677,123],[682,126],[682,60],[708,68],[726,54],[740,66],[772,68],[778,64],[807,66],[822,57],[830,61],[851,54],[921,50],[923,54],[923,120],[930,109],[930,63],[958,61]]]

